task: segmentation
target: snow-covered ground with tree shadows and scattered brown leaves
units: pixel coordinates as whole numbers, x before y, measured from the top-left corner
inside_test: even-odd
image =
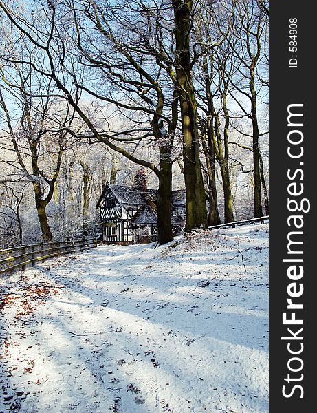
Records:
[[[268,412],[268,225],[1,278],[0,412]]]

